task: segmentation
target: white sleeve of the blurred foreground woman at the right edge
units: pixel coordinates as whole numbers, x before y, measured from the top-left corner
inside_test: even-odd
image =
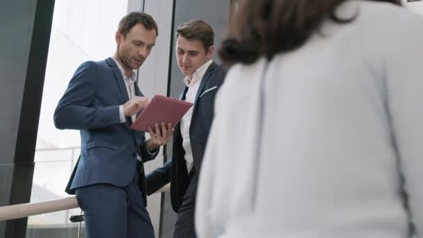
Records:
[[[397,151],[406,208],[417,236],[423,235],[423,20],[415,17],[390,45],[386,102]]]

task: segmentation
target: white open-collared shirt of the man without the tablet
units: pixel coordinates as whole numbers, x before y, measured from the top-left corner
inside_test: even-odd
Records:
[[[198,87],[200,87],[202,77],[207,71],[207,68],[212,64],[212,60],[207,61],[204,65],[201,65],[200,68],[195,70],[191,81],[188,77],[185,77],[184,83],[188,87],[185,95],[185,101],[194,103],[195,95],[197,95]],[[188,172],[193,168],[193,151],[191,148],[191,141],[189,138],[189,127],[191,126],[191,118],[193,116],[193,106],[185,113],[181,119],[181,135],[182,135],[182,147],[185,150],[184,159],[186,161],[186,168]]]

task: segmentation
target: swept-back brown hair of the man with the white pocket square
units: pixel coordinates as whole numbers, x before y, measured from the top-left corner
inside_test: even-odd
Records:
[[[201,19],[184,22],[176,29],[176,37],[182,36],[187,40],[198,40],[205,51],[214,44],[214,31],[212,26]]]

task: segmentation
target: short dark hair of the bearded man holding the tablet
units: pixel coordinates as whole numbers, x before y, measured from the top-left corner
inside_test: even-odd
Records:
[[[125,37],[136,24],[142,24],[145,29],[154,30],[156,31],[156,35],[159,35],[157,24],[153,17],[144,12],[128,13],[128,15],[120,20],[118,31]]]

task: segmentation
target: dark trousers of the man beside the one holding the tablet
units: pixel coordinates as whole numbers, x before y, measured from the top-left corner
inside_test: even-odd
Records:
[[[186,189],[184,200],[177,212],[176,223],[173,227],[173,238],[196,238],[194,214],[195,195],[197,193],[198,176],[195,173],[190,175],[191,180]]]

